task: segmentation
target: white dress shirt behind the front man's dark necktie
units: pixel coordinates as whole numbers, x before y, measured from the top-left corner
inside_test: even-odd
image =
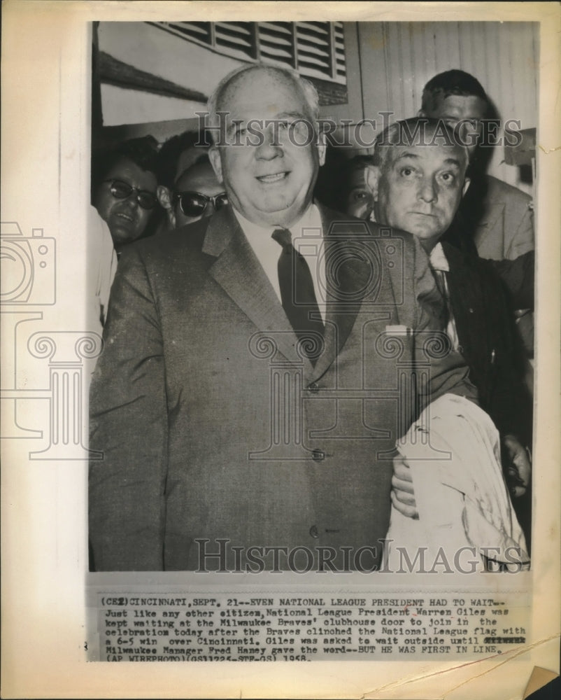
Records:
[[[241,230],[246,235],[257,260],[261,263],[267,278],[271,282],[279,302],[280,286],[278,283],[278,258],[282,251],[280,245],[271,238],[274,230],[285,226],[269,226],[264,228],[248,221],[239,211],[234,209]],[[325,255],[323,250],[322,221],[320,211],[311,204],[299,221],[290,226],[292,245],[308,263],[313,281],[313,291],[318,302],[322,321],[325,323]]]

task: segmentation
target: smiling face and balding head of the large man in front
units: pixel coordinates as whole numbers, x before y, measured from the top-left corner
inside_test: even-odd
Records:
[[[325,159],[325,147],[298,123],[313,124],[301,87],[278,71],[253,69],[226,87],[218,110],[229,113],[229,145],[209,155],[229,202],[257,225],[289,227],[311,203]]]

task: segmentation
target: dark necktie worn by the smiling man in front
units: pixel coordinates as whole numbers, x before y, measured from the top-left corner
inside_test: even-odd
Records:
[[[322,351],[324,328],[310,269],[292,245],[289,230],[278,228],[274,230],[272,238],[283,248],[278,258],[278,283],[283,309],[302,351],[315,364]]]

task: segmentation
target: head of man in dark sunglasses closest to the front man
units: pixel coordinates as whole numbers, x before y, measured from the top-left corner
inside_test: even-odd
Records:
[[[166,211],[167,230],[212,216],[228,203],[224,187],[208,160],[204,135],[183,132],[171,137],[158,155],[159,204]]]

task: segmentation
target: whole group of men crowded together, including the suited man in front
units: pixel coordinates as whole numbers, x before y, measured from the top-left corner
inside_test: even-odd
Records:
[[[119,261],[90,398],[93,569],[252,570],[269,549],[341,570],[364,547],[376,568],[392,507],[420,517],[396,445],[448,394],[495,424],[529,539],[532,203],[458,139],[489,106],[441,73],[316,189],[315,88],[252,65],[215,88],[211,145],[94,154]]]

